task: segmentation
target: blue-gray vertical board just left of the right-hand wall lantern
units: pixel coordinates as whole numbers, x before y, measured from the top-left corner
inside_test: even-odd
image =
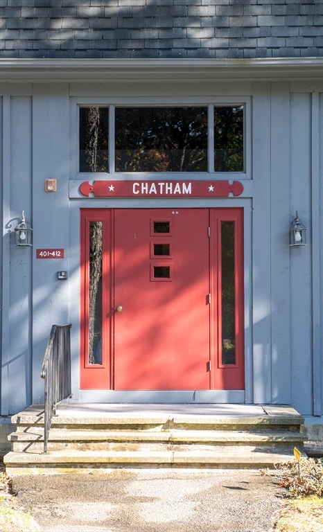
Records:
[[[290,87],[271,83],[270,321],[271,402],[290,405],[290,251],[286,228],[290,204]]]

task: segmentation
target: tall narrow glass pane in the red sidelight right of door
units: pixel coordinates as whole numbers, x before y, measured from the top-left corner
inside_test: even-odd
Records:
[[[234,222],[221,222],[222,238],[222,364],[236,363]]]

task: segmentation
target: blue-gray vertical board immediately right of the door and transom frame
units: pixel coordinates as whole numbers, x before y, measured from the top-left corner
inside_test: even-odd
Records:
[[[252,344],[253,402],[270,405],[270,85],[255,82],[252,99]],[[267,242],[267,245],[263,245]],[[261,253],[259,253],[261,249]],[[251,394],[250,394],[251,398]]]

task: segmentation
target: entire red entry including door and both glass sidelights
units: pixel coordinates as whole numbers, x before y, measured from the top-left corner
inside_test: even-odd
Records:
[[[243,209],[81,209],[80,389],[244,389]]]

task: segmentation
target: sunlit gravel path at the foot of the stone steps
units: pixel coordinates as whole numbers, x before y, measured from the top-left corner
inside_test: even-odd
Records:
[[[140,470],[12,478],[43,532],[272,532],[283,493],[256,470]]]

